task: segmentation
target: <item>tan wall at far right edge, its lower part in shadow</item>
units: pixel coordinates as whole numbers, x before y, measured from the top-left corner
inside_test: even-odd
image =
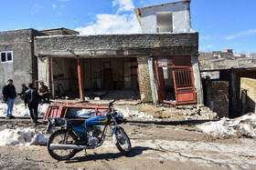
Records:
[[[245,94],[244,101],[242,94]],[[256,103],[256,79],[254,78],[240,78],[240,100],[244,108],[243,114],[255,112]]]

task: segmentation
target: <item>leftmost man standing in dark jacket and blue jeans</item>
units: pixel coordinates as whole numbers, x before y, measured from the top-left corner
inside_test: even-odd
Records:
[[[16,87],[15,85],[13,85],[12,79],[9,79],[7,82],[7,85],[3,87],[2,95],[4,95],[4,100],[7,105],[5,118],[6,119],[15,118],[15,116],[13,116],[12,113],[13,113],[13,108],[16,100]]]

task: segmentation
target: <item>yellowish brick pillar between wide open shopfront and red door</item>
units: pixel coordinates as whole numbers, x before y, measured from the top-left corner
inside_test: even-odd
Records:
[[[141,100],[143,102],[152,102],[152,91],[148,70],[148,56],[137,56],[137,61],[141,88]]]

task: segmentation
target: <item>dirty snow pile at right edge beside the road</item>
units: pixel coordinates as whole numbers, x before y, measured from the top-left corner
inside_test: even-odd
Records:
[[[242,115],[236,119],[221,118],[217,122],[197,125],[204,133],[220,138],[255,137],[256,114]]]

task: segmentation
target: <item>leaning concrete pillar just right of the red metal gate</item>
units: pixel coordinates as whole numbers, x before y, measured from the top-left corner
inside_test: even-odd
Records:
[[[195,80],[195,87],[197,93],[197,104],[204,104],[203,86],[201,80],[201,73],[197,55],[191,56],[191,63],[193,68],[193,75]]]

